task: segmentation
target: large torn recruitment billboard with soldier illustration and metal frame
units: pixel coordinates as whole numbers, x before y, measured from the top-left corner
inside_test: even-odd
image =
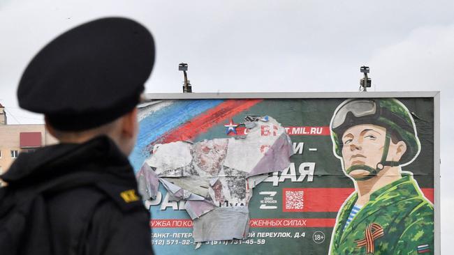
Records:
[[[157,254],[439,252],[438,93],[150,94]]]

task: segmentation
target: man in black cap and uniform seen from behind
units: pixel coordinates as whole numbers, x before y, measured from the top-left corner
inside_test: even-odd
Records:
[[[8,183],[0,192],[1,254],[153,253],[127,158],[153,63],[152,35],[119,17],[61,34],[29,63],[19,104],[45,114],[60,143],[22,153],[0,176]]]

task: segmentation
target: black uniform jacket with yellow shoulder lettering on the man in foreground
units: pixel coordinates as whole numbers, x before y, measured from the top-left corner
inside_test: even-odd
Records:
[[[108,137],[22,153],[1,178],[0,209],[52,187],[27,212],[15,254],[153,254],[133,169]]]

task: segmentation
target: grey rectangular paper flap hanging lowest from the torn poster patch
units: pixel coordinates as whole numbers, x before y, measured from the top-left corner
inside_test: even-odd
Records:
[[[247,236],[248,224],[246,206],[215,208],[193,220],[194,242],[243,239]]]

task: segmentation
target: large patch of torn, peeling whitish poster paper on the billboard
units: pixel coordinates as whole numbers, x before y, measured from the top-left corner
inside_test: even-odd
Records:
[[[247,236],[252,188],[290,164],[293,146],[284,128],[269,116],[246,119],[245,137],[156,144],[142,167],[154,170],[173,201],[186,201],[195,242]]]

